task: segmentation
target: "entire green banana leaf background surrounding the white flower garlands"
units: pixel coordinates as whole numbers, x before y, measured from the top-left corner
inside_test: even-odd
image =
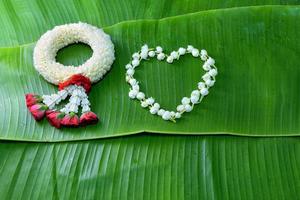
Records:
[[[298,199],[299,3],[2,1],[1,199]],[[25,93],[57,91],[34,70],[32,52],[46,30],[78,21],[111,35],[116,61],[89,94],[101,123],[57,130],[24,104]],[[192,44],[216,59],[215,87],[176,124],[127,97],[124,65],[144,43]],[[71,45],[57,59],[79,64],[90,54]],[[186,56],[144,62],[137,77],[174,109],[202,73]]]

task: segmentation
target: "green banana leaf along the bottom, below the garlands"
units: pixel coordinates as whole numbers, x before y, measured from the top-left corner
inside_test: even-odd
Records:
[[[1,199],[299,199],[300,140],[159,136],[0,144]]]

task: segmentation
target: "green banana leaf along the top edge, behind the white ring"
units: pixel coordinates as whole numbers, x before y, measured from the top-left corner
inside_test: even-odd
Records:
[[[3,0],[0,3],[0,46],[35,42],[58,24],[80,20],[104,27],[125,20],[160,19],[201,10],[299,4],[299,0]]]

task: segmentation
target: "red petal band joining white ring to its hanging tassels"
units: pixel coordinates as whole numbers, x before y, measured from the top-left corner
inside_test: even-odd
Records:
[[[62,83],[59,83],[58,89],[63,90],[65,87],[68,87],[70,85],[82,86],[85,89],[86,93],[89,93],[89,91],[91,90],[90,79],[81,74],[75,74],[75,75],[71,76],[68,80],[66,80]]]

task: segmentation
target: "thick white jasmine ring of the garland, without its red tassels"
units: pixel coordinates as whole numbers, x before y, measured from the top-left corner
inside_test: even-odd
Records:
[[[91,58],[77,67],[56,62],[59,49],[78,42],[92,48]],[[114,45],[110,36],[102,29],[82,22],[56,26],[47,31],[38,40],[33,52],[36,70],[55,85],[75,74],[82,74],[95,83],[110,69],[114,59]]]

